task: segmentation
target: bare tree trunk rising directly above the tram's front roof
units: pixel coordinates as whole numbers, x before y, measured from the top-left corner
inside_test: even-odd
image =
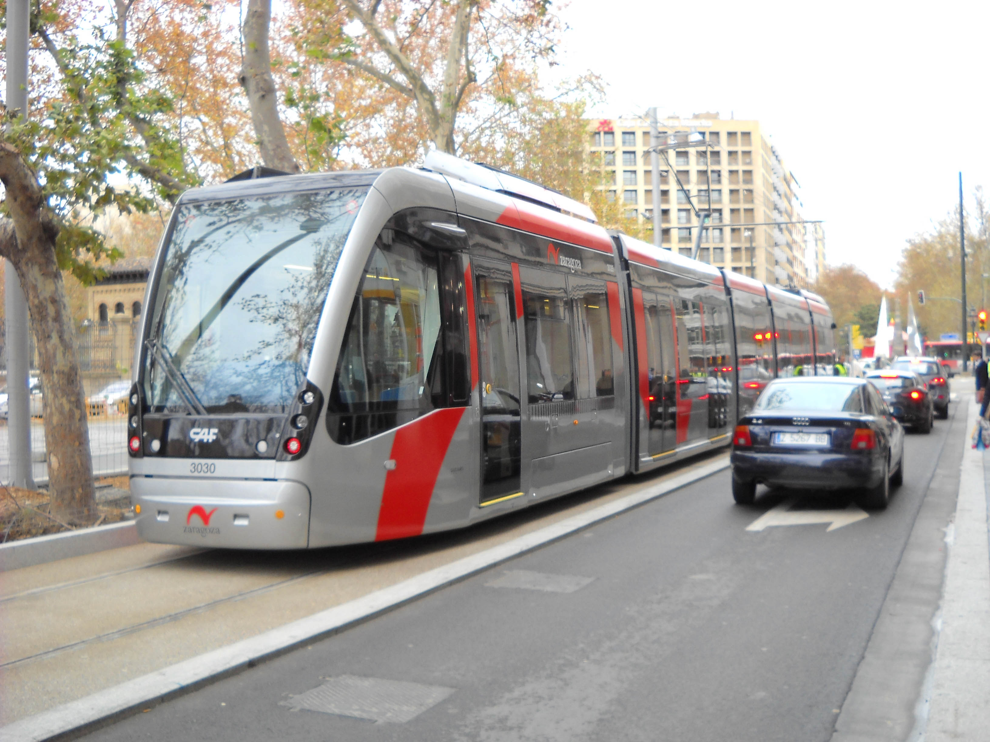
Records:
[[[278,97],[271,76],[268,52],[268,26],[271,23],[271,0],[248,0],[245,16],[245,60],[241,84],[247,91],[251,123],[261,149],[261,160],[268,167],[285,172],[299,172],[299,163],[289,149],[282,120],[278,117]]]

